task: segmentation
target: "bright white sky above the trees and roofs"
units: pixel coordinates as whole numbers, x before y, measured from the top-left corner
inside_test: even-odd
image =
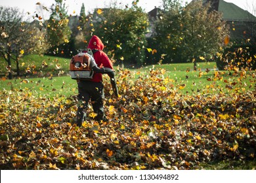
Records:
[[[182,2],[190,3],[192,0],[182,0]],[[234,3],[240,8],[244,10],[248,10],[249,12],[253,13],[256,8],[256,0],[224,0],[228,3]],[[47,10],[39,10],[40,6],[47,7],[50,10],[51,5],[53,5],[54,0],[0,0],[0,6],[3,7],[18,7],[21,11],[23,10],[25,13],[30,12],[28,16],[32,18],[35,13],[40,14],[40,16],[47,19],[49,16],[49,12]],[[110,4],[117,2],[117,7],[125,8],[131,7],[133,0],[64,0],[66,7],[68,7],[68,14],[76,15],[80,13],[82,3],[85,4],[85,13],[93,12],[95,8],[104,8],[109,7]],[[142,7],[145,12],[149,12],[150,10],[154,9],[154,7],[161,7],[161,0],[139,0],[139,7]],[[36,5],[40,3],[41,5]],[[256,14],[253,13],[255,16]]]

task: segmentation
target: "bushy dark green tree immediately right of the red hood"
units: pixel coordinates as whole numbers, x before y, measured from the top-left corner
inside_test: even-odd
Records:
[[[92,32],[104,38],[114,59],[141,65],[144,61],[148,16],[134,3],[124,10],[109,8],[95,12]]]

